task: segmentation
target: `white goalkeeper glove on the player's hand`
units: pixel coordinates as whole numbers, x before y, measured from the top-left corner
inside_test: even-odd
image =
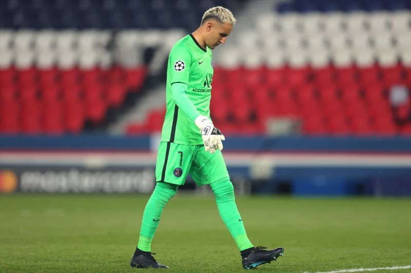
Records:
[[[221,140],[226,140],[226,138],[221,134],[218,128],[214,127],[213,122],[211,122],[208,117],[198,116],[195,123],[198,129],[200,129],[206,152],[210,151],[211,154],[214,154],[217,149],[221,151]]]

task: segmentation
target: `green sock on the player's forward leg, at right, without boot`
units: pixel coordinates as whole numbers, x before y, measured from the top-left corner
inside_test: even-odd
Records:
[[[233,183],[228,178],[223,178],[211,183],[210,186],[214,192],[221,219],[226,224],[239,250],[253,247],[235,204]]]

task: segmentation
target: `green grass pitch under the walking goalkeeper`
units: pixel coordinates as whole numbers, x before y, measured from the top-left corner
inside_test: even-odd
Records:
[[[0,196],[0,272],[157,271],[128,264],[148,197]],[[411,199],[240,197],[237,206],[256,246],[285,248],[258,271],[411,264]],[[152,251],[167,272],[245,272],[213,196],[173,197]]]

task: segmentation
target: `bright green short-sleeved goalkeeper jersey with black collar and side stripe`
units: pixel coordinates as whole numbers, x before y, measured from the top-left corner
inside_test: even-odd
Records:
[[[173,46],[167,63],[165,91],[166,114],[161,141],[185,145],[203,144],[200,130],[176,105],[173,83],[188,85],[186,95],[200,115],[210,118],[211,81],[213,78],[211,49],[201,48],[191,34]],[[184,107],[180,105],[180,107]]]

